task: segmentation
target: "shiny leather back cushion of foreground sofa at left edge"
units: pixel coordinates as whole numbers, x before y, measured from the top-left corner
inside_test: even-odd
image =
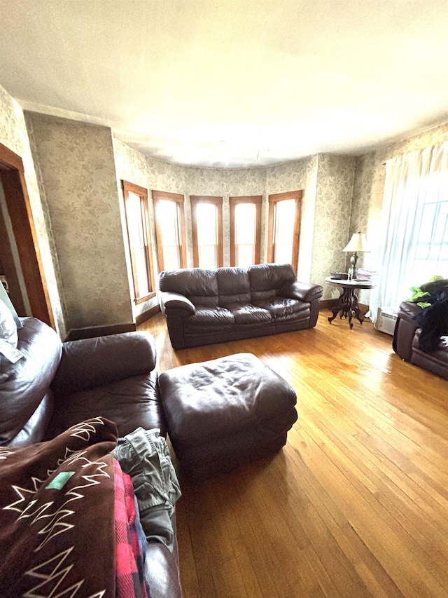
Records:
[[[51,416],[50,383],[62,343],[36,318],[23,318],[22,323],[18,349],[24,356],[15,363],[0,358],[0,446],[40,442]]]

